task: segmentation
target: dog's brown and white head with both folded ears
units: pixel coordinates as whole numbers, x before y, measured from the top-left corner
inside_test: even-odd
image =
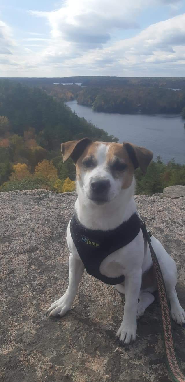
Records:
[[[63,161],[72,158],[77,169],[77,182],[95,204],[110,202],[122,189],[132,184],[134,170],[146,172],[152,151],[123,142],[93,142],[89,138],[61,144]]]

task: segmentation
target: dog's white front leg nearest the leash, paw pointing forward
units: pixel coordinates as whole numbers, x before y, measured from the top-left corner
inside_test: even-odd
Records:
[[[137,330],[137,303],[139,299],[140,287],[141,287],[141,275],[142,271],[137,270],[132,274],[125,277],[125,306],[123,321],[121,322],[120,329],[118,329],[117,337],[123,344],[129,344],[136,340]]]

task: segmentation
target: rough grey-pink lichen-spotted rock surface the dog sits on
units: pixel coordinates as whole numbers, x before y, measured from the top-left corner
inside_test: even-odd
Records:
[[[137,339],[121,347],[115,333],[124,296],[84,272],[72,309],[46,310],[68,285],[66,229],[75,193],[0,193],[0,376],[4,382],[169,382],[158,298],[138,321]],[[181,200],[136,196],[142,219],[177,264],[185,307],[185,206]],[[173,322],[185,367],[185,330]],[[51,366],[52,365],[52,366]]]

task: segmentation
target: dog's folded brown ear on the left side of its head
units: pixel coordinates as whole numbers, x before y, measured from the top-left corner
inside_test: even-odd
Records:
[[[74,163],[77,163],[78,158],[83,153],[85,148],[91,144],[92,141],[89,138],[83,138],[80,141],[68,141],[61,143],[61,151],[63,156],[63,162],[69,157],[72,158]]]

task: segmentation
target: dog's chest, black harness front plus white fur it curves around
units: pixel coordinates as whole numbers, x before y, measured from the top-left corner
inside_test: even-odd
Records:
[[[133,214],[113,231],[92,231],[74,215],[70,234],[86,271],[107,284],[123,282],[135,262],[140,225],[138,215]]]

